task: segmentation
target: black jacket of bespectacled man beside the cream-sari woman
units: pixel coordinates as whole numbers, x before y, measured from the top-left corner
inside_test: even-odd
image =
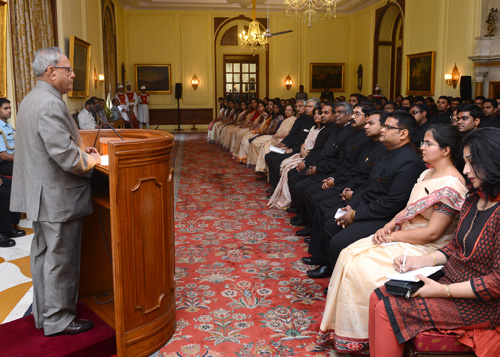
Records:
[[[375,163],[368,185],[354,191],[349,205],[355,221],[391,219],[408,202],[411,190],[425,165],[410,144],[387,151]]]

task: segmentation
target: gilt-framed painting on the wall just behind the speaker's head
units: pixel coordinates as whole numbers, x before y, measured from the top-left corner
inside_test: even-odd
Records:
[[[68,97],[82,98],[89,95],[90,49],[90,43],[75,36],[69,38],[69,62],[73,67],[75,79],[73,90],[68,93]]]

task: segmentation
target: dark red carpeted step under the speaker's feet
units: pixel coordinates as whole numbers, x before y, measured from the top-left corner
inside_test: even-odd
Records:
[[[35,328],[33,315],[0,325],[1,356],[109,357],[116,354],[115,331],[85,304],[78,303],[78,318],[94,322],[88,332],[72,336],[45,337]]]

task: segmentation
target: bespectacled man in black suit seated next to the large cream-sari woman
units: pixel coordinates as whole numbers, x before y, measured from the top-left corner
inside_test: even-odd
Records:
[[[349,204],[342,208],[344,215],[325,222],[322,245],[311,257],[322,265],[309,270],[309,277],[330,276],[342,249],[373,234],[405,207],[413,185],[425,169],[411,145],[416,129],[411,114],[389,114],[380,135],[387,152],[376,162],[368,185],[355,191]]]

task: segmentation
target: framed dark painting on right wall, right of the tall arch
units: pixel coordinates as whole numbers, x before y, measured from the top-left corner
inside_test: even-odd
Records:
[[[436,52],[406,56],[406,94],[434,95]]]

